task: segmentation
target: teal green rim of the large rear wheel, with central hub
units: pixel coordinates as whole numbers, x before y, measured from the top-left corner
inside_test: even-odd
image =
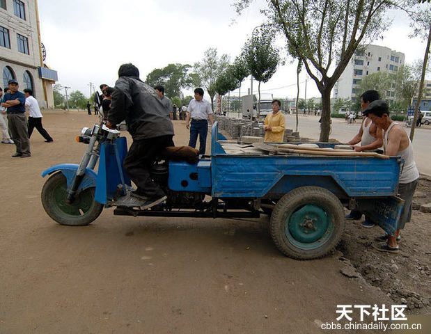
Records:
[[[333,217],[319,205],[304,205],[286,217],[285,236],[301,250],[322,246],[333,232]]]

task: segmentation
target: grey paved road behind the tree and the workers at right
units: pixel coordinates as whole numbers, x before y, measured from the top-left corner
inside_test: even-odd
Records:
[[[288,128],[295,129],[295,116],[287,116],[286,121]],[[299,116],[299,132],[301,136],[317,140],[320,134],[320,123],[318,121],[319,117],[317,116]],[[343,143],[350,141],[359,132],[360,126],[360,121],[355,124],[347,124],[344,120],[333,118],[331,138]],[[410,129],[407,129],[407,133],[410,134]],[[429,146],[431,145],[431,125],[423,125],[416,129],[414,136],[414,158],[416,164],[418,164],[419,171],[431,175],[431,150]]]

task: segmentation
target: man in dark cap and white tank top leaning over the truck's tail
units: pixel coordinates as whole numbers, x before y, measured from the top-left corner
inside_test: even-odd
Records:
[[[400,156],[404,160],[404,167],[400,174],[398,185],[398,196],[402,198],[404,207],[398,221],[395,235],[385,234],[377,237],[377,241],[386,241],[385,244],[375,246],[377,250],[389,253],[398,253],[398,241],[400,241],[400,230],[405,227],[405,223],[412,218],[412,201],[414,191],[418,185],[419,172],[413,157],[413,145],[405,129],[398,123],[393,122],[389,117],[389,106],[384,100],[371,102],[363,111],[379,129],[384,132],[383,145],[384,154]]]

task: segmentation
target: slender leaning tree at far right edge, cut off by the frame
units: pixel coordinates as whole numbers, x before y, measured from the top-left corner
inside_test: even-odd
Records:
[[[414,116],[412,129],[410,129],[410,140],[413,141],[414,129],[416,128],[416,121],[418,120],[418,108],[421,104],[423,86],[425,82],[425,73],[428,68],[428,57],[430,56],[430,45],[431,45],[431,6],[423,5],[421,10],[415,13],[414,19],[412,20],[412,27],[414,31],[412,37],[419,36],[423,40],[427,40],[427,46],[425,47],[425,56],[423,56],[423,65],[421,73],[421,82],[419,83],[418,89],[418,100],[416,101],[416,106],[414,107]]]

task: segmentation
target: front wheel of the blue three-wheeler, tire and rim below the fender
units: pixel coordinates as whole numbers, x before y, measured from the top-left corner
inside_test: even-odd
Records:
[[[65,202],[67,181],[63,173],[51,175],[42,188],[42,205],[54,221],[61,225],[85,226],[100,216],[103,205],[94,200],[95,188],[81,191],[72,205]]]

